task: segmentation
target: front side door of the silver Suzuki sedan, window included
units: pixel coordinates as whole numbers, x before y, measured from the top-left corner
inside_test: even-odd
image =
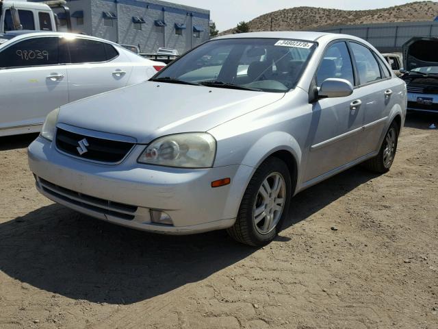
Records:
[[[346,42],[335,42],[326,50],[316,73],[316,82],[321,86],[324,80],[332,77],[355,85]],[[320,99],[313,103],[305,182],[355,160],[363,123],[364,98],[365,93],[359,88],[348,97]]]

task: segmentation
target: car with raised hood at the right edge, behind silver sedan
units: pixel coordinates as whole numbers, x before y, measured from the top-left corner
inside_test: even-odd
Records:
[[[438,113],[437,47],[438,38],[411,38],[403,45],[408,110]]]

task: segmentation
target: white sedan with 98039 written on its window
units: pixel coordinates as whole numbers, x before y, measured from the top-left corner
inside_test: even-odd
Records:
[[[0,136],[38,132],[51,109],[144,82],[164,65],[91,36],[0,34]]]

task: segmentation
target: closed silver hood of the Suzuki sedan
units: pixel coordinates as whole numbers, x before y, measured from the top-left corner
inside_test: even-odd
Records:
[[[267,106],[284,93],[143,82],[62,106],[58,123],[136,138],[206,132]]]

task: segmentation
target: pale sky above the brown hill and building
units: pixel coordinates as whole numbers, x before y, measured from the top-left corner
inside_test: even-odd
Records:
[[[240,21],[250,21],[261,14],[285,8],[308,5],[342,10],[363,10],[391,7],[413,2],[408,0],[167,0],[210,10],[211,20],[219,31],[231,29]]]

